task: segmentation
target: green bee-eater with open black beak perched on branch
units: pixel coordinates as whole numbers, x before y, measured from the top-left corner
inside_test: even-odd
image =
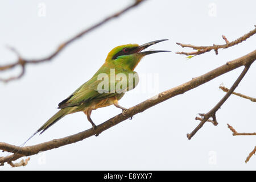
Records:
[[[86,114],[88,121],[92,124],[93,129],[95,129],[96,125],[90,118],[92,110],[113,104],[125,111],[125,107],[118,105],[118,100],[123,97],[126,91],[129,91],[137,86],[138,75],[136,72],[134,72],[134,68],[137,67],[142,57],[151,53],[170,52],[142,52],[142,50],[165,40],[168,39],[156,40],[143,44],[142,46],[139,46],[138,44],[126,44],[113,48],[106,57],[105,63],[101,66],[100,69],[98,69],[93,77],[82,84],[69,97],[60,102],[58,107],[60,110],[51,118],[49,118],[49,120],[44,123],[43,126],[36,130],[36,132],[30,138],[28,138],[28,140],[39,132],[42,134],[67,114],[83,111]],[[115,79],[119,73],[122,73],[122,79]],[[133,76],[132,79],[129,78],[130,75]],[[114,77],[114,80],[111,79],[111,77]],[[105,82],[102,81],[102,78],[104,78]],[[103,85],[105,86],[103,89],[102,86],[99,86],[102,85],[102,82],[105,84]]]

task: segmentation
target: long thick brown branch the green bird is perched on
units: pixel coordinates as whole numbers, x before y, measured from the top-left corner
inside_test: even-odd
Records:
[[[9,162],[14,161],[16,159],[21,158],[22,156],[30,156],[38,154],[39,151],[47,151],[51,150],[53,148],[61,147],[67,144],[75,143],[80,140],[83,140],[85,138],[91,137],[97,133],[102,133],[103,131],[109,129],[110,127],[117,125],[118,123],[125,121],[126,119],[130,118],[131,116],[141,113],[142,111],[155,106],[159,104],[160,102],[166,101],[172,97],[175,97],[179,94],[183,94],[187,92],[188,90],[191,90],[193,88],[196,88],[199,85],[204,84],[205,82],[208,82],[212,80],[213,78],[216,78],[220,75],[223,75],[224,73],[227,73],[229,71],[232,71],[233,69],[236,69],[238,67],[241,67],[243,65],[248,65],[253,63],[256,60],[256,50],[253,52],[250,52],[249,54],[242,56],[236,60],[229,61],[228,64],[224,64],[221,67],[218,67],[216,69],[213,69],[212,71],[205,73],[204,75],[201,75],[199,77],[195,77],[192,80],[185,82],[184,84],[181,84],[179,86],[176,86],[175,88],[166,90],[162,93],[158,94],[158,97],[154,97],[154,99],[148,99],[144,102],[141,102],[141,104],[138,104],[136,106],[133,106],[125,111],[125,114],[118,114],[113,118],[110,118],[108,121],[101,123],[96,127],[96,130],[88,129],[85,131],[82,131],[81,133],[71,135],[69,137],[61,138],[61,139],[54,139],[49,142],[37,144],[35,146],[28,146],[28,147],[18,147],[13,146],[11,144],[7,143],[1,143],[0,142],[0,150],[7,151],[7,152],[17,152],[15,155],[10,155],[6,157],[0,158],[0,165]],[[209,119],[209,118],[208,118]]]

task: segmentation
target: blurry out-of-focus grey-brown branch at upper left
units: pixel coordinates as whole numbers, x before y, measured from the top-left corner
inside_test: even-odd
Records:
[[[102,24],[105,24],[106,22],[109,22],[109,20],[117,18],[119,15],[121,15],[123,13],[126,13],[128,10],[132,9],[135,6],[138,6],[143,1],[146,1],[146,0],[136,0],[132,5],[127,6],[125,9],[123,9],[123,10],[117,12],[117,13],[114,13],[113,15],[108,16],[107,18],[105,18],[105,19],[101,20],[100,22],[94,24],[92,27],[89,27],[86,30],[81,31],[79,34],[73,36],[71,39],[69,39],[66,42],[60,44],[60,46],[57,47],[57,49],[53,53],[51,53],[50,55],[48,55],[46,57],[43,57],[42,59],[25,59],[24,57],[21,57],[14,48],[10,48],[12,51],[14,51],[18,55],[18,60],[13,64],[7,64],[7,65],[0,66],[0,71],[6,71],[6,70],[9,70],[9,69],[17,67],[17,66],[20,66],[22,68],[22,71],[20,72],[20,74],[18,76],[6,78],[6,79],[0,78],[0,81],[9,82],[9,81],[16,80],[16,79],[22,77],[24,75],[25,71],[26,71],[26,65],[27,64],[38,64],[38,63],[43,63],[45,61],[52,60],[65,47],[67,47],[69,44],[71,44],[75,40],[81,38],[81,36],[87,34],[88,32],[94,30],[97,27],[100,27]]]

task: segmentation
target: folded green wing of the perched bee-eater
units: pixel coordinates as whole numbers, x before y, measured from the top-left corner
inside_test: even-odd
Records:
[[[113,97],[135,88],[137,84],[138,74],[136,72],[115,68],[115,74],[109,70],[101,75],[94,75],[71,96],[60,102],[59,108],[79,106],[92,100]]]

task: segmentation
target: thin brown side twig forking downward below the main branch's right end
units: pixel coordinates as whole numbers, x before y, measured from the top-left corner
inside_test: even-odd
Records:
[[[213,107],[212,110],[210,110],[207,114],[201,114],[203,116],[202,121],[199,123],[199,125],[190,133],[187,134],[188,139],[190,140],[193,135],[197,133],[203,127],[204,123],[207,122],[207,120],[212,117],[213,118],[213,123],[214,125],[217,125],[217,120],[216,120],[216,112],[220,107],[224,104],[224,102],[229,98],[229,96],[233,93],[234,89],[237,88],[238,84],[241,82],[242,78],[245,76],[247,71],[250,68],[251,63],[248,63],[245,65],[245,68],[243,69],[241,75],[237,78],[237,80],[234,82],[230,90],[225,94],[225,96],[218,102],[216,106]]]

